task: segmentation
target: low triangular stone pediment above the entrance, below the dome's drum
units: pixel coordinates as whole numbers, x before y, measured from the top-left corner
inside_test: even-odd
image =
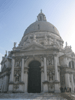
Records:
[[[43,50],[45,47],[38,43],[30,43],[22,48],[23,50]]]

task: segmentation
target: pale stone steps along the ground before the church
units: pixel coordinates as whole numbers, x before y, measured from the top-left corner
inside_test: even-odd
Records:
[[[75,100],[70,93],[0,93],[0,99]]]

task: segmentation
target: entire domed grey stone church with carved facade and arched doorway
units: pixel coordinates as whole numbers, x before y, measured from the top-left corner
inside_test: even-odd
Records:
[[[0,92],[60,93],[75,90],[75,54],[63,47],[57,28],[42,11],[29,25],[19,43],[1,61]]]

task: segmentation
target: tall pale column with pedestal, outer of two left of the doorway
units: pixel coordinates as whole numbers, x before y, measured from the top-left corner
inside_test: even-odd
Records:
[[[15,60],[14,60],[14,58],[12,58],[12,66],[11,66],[11,74],[10,74],[10,82],[9,82],[9,92],[13,92],[14,65],[15,65]]]

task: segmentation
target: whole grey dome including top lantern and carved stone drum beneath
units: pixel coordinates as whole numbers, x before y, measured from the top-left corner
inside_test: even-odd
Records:
[[[39,45],[50,46],[57,43],[63,47],[63,40],[57,28],[47,22],[45,15],[41,12],[37,16],[37,21],[32,23],[24,32],[19,46],[27,46],[36,41]]]

